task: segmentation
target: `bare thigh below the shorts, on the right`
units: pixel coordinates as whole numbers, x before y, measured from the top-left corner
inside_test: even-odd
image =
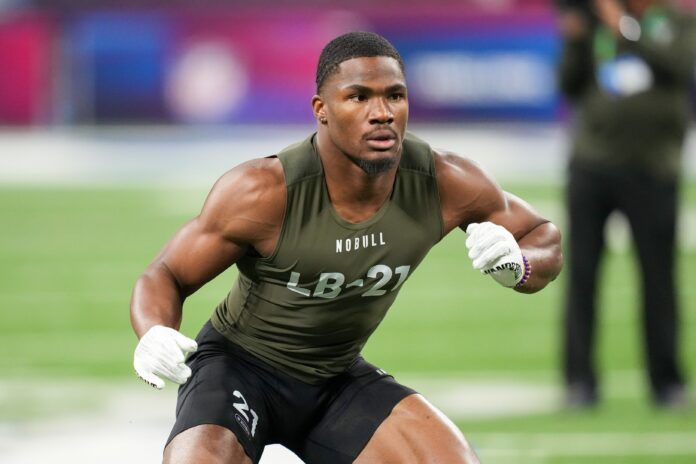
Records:
[[[421,395],[401,400],[379,426],[358,464],[477,464],[464,435],[442,412]]]

